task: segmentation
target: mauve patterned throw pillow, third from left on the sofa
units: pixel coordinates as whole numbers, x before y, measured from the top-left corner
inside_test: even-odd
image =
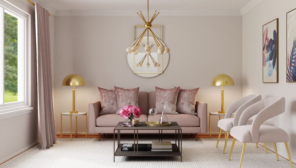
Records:
[[[164,112],[166,114],[178,114],[176,112],[176,104],[178,98],[178,92],[180,87],[171,89],[162,89],[155,86],[156,92],[156,109],[158,112],[163,111],[163,106],[165,106]]]

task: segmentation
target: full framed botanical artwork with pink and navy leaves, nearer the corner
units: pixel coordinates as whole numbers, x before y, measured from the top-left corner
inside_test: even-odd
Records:
[[[279,19],[263,25],[263,83],[279,83]]]

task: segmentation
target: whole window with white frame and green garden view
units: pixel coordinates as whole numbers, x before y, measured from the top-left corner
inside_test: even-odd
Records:
[[[27,17],[0,1],[0,113],[28,105]]]

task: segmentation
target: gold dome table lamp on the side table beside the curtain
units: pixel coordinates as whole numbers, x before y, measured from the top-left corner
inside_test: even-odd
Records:
[[[75,87],[74,86],[84,86],[85,82],[84,79],[77,74],[71,74],[64,78],[62,86],[73,86],[72,90],[72,111],[70,113],[78,113],[78,111],[75,111]]]

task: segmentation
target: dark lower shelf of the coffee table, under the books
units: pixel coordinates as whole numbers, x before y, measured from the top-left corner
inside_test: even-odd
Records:
[[[147,151],[121,151],[123,144],[119,144],[118,148],[115,151],[115,156],[181,156],[181,152],[176,143],[172,143],[172,152],[152,152],[151,143],[147,144]]]

